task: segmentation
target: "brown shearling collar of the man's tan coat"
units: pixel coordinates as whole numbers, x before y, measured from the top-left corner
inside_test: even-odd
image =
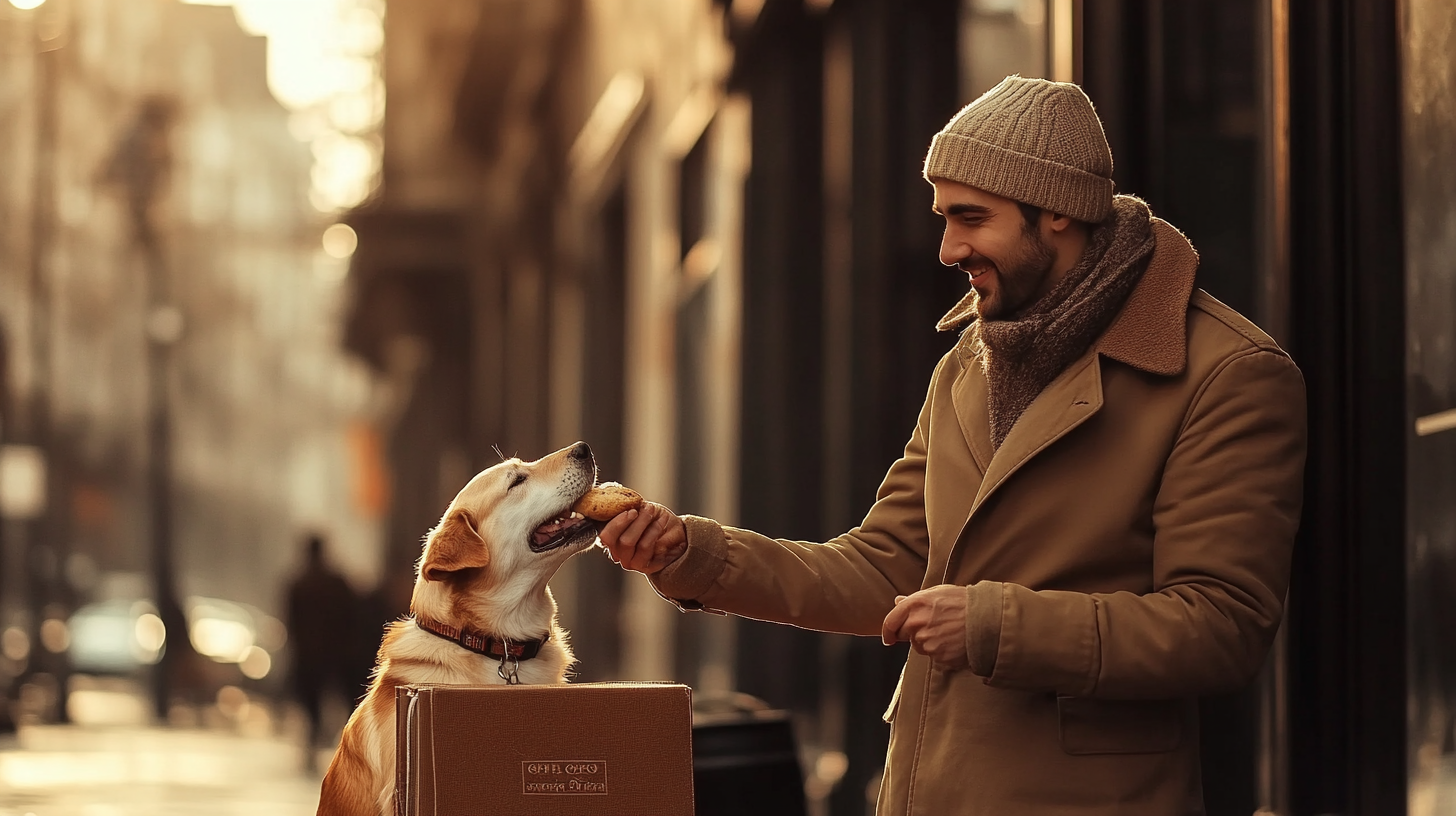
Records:
[[[1118,363],[1172,376],[1188,363],[1188,300],[1198,271],[1198,251],[1178,227],[1159,217],[1153,217],[1153,236],[1158,243],[1143,280],[1092,347]],[[935,328],[958,331],[976,321],[973,294],[962,297]]]

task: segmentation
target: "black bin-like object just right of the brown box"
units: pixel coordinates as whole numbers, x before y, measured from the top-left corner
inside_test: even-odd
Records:
[[[743,694],[695,701],[693,800],[697,816],[805,816],[789,713]]]

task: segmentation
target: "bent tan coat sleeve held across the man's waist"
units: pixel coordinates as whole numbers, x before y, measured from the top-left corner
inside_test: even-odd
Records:
[[[1275,351],[1233,357],[1194,399],[1153,504],[1149,595],[970,587],[971,670],[993,686],[1175,698],[1246,685],[1283,616],[1299,527],[1305,386]]]

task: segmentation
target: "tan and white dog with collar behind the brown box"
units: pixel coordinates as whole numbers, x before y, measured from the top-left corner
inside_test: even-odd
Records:
[[[373,680],[323,775],[319,816],[395,812],[395,688],[562,683],[574,663],[546,581],[603,523],[585,443],[476,474],[425,538],[409,616],[389,624]]]

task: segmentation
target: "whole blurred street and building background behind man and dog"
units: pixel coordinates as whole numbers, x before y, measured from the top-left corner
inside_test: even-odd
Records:
[[[853,526],[964,290],[925,150],[1009,73],[1085,86],[1118,189],[1309,385],[1208,812],[1456,813],[1453,54],[1441,0],[0,0],[0,813],[163,812],[106,750],[312,813],[309,711],[342,726],[498,450]],[[316,705],[304,574],[349,609]],[[901,650],[683,615],[600,552],[553,589],[579,680],[786,710],[810,812],[872,810]]]

